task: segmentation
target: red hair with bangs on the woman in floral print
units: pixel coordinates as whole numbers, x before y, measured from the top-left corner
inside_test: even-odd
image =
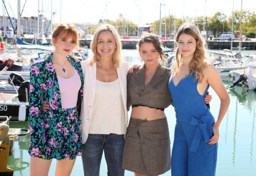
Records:
[[[56,40],[59,39],[60,37],[62,39],[68,39],[70,36],[72,36],[73,42],[75,43],[75,47],[77,47],[79,45],[79,40],[78,40],[78,32],[76,27],[69,23],[57,25],[52,35],[53,45],[55,46]]]

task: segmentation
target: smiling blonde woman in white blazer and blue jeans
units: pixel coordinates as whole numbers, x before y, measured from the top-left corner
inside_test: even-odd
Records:
[[[104,151],[108,176],[124,176],[122,155],[128,126],[128,63],[112,25],[98,27],[91,41],[93,57],[82,61],[84,101],[81,106],[84,176],[99,176]]]

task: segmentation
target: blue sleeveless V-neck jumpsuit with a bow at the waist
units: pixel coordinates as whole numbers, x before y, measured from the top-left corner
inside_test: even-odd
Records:
[[[208,145],[213,136],[214,117],[200,95],[195,74],[181,79],[177,86],[169,82],[176,126],[171,157],[172,176],[215,176],[218,144]]]

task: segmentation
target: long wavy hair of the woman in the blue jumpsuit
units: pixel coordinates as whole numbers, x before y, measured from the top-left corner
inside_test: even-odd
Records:
[[[196,51],[194,53],[194,57],[192,61],[189,63],[189,72],[185,75],[188,76],[192,73],[195,73],[196,79],[198,79],[198,82],[200,83],[203,80],[203,68],[207,65],[207,57],[205,56],[206,52],[206,43],[203,37],[200,34],[200,30],[196,27],[194,24],[183,24],[179,27],[177,31],[177,35],[175,37],[175,42],[178,45],[178,40],[181,34],[188,34],[192,36],[196,40]],[[172,65],[171,65],[171,73],[172,76],[174,72],[178,70],[181,66],[181,60],[183,59],[183,56],[179,50],[179,48],[176,48],[176,59],[173,59]]]

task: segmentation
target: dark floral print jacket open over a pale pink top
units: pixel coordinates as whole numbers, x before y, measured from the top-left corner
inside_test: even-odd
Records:
[[[83,72],[81,63],[71,55],[67,57],[75,70],[80,75],[81,87],[79,91],[79,99],[83,101]],[[71,85],[72,86],[72,85]],[[50,112],[43,112],[43,102],[48,102]],[[42,139],[44,129],[52,117],[60,117],[62,115],[60,87],[56,71],[53,67],[52,54],[44,61],[39,61],[30,68],[30,144],[34,140]],[[48,124],[49,125],[49,124]],[[37,143],[37,142],[36,142]],[[40,141],[38,141],[40,143]]]

